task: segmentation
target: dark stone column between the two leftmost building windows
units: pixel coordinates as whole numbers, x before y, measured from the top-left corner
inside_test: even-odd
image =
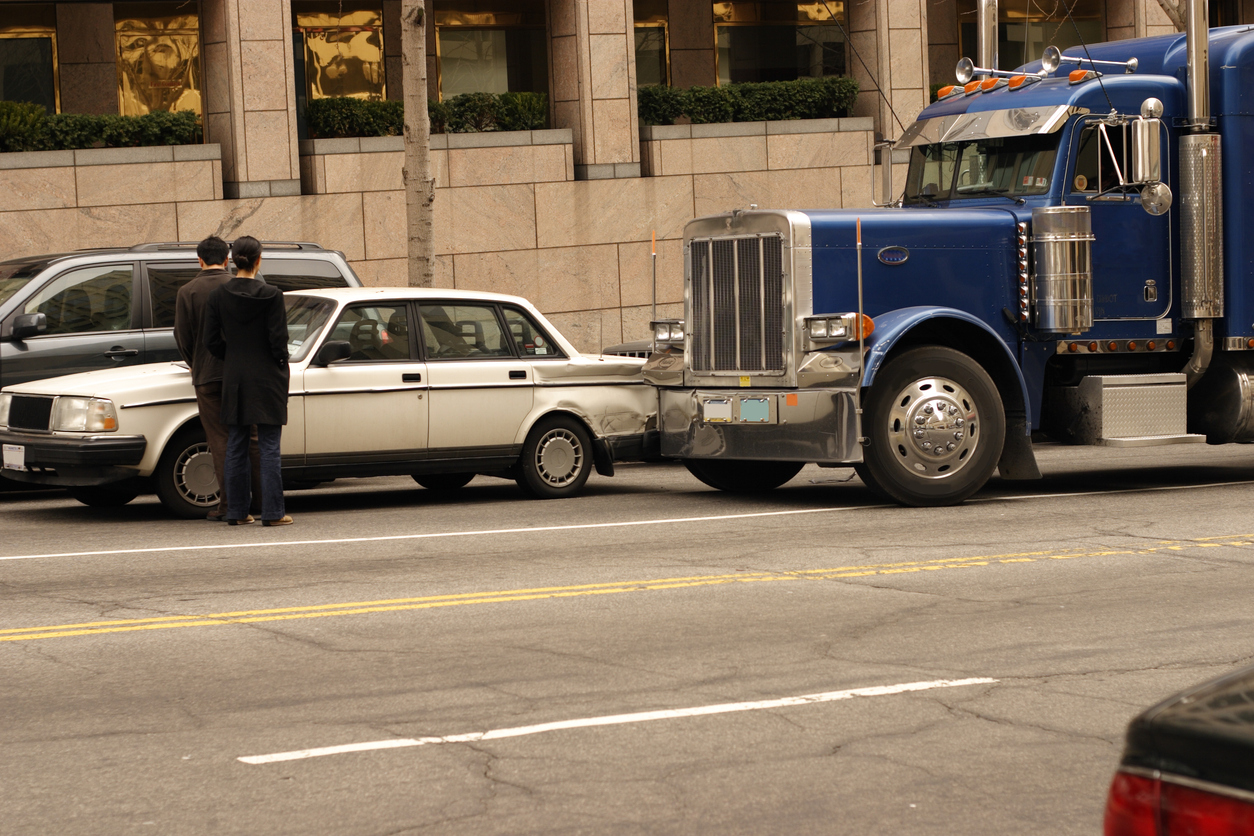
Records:
[[[112,3],[56,4],[61,113],[118,113]]]

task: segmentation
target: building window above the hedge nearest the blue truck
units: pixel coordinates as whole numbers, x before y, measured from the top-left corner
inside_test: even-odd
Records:
[[[844,23],[840,0],[715,3],[719,84],[844,75]]]

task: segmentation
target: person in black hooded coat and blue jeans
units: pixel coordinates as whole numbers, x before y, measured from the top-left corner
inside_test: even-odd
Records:
[[[227,425],[227,523],[248,516],[248,434],[261,447],[261,523],[290,525],[283,510],[280,441],[287,424],[287,315],[283,293],[255,278],[261,242],[251,236],[232,246],[236,277],[209,295],[204,345],[222,366],[222,422]]]

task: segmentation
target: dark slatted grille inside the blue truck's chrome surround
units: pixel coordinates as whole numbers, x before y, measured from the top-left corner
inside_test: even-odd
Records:
[[[693,371],[782,374],[784,239],[693,239]]]

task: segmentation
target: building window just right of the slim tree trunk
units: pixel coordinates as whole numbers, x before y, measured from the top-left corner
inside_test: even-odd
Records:
[[[435,0],[440,99],[548,93],[544,0]]]

